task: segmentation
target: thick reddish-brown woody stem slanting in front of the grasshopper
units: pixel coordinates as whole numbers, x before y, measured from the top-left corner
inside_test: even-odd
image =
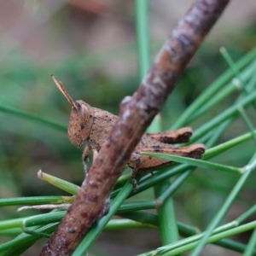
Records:
[[[198,0],[180,20],[137,92],[121,102],[119,120],[41,255],[70,255],[92,224],[102,217],[114,183],[133,149],[228,2]]]

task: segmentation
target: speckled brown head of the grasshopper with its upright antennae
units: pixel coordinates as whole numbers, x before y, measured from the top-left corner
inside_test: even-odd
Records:
[[[68,125],[68,137],[71,143],[81,147],[90,136],[91,126],[93,125],[93,110],[89,104],[83,101],[73,102],[64,85],[58,82],[54,76],[52,76],[52,79],[72,108]]]

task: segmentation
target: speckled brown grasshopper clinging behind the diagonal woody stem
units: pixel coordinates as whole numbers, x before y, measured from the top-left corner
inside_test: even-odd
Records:
[[[81,147],[84,142],[87,142],[82,155],[84,170],[87,172],[86,160],[89,157],[90,151],[93,151],[95,158],[95,155],[101,149],[102,143],[105,142],[109,132],[117,121],[118,116],[100,108],[90,107],[89,104],[81,100],[73,102],[64,85],[58,82],[54,76],[52,76],[52,79],[72,107],[68,125],[68,137],[71,143]],[[191,128],[184,127],[177,131],[144,134],[127,163],[133,169],[131,181],[135,188],[137,189],[137,181],[135,179],[137,174],[150,172],[150,169],[165,166],[172,162],[170,160],[140,154],[141,151],[201,158],[201,155],[205,152],[205,146],[203,144],[194,144],[181,148],[172,146],[172,143],[187,143],[192,132]]]

